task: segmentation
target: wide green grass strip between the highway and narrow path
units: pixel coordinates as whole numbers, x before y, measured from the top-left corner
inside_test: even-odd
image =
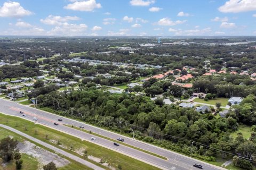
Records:
[[[88,155],[92,155],[93,157],[100,158],[104,162],[110,164],[115,168],[118,165],[121,165],[122,169],[137,169],[137,168],[142,170],[158,169],[154,166],[140,162],[139,160],[125,156],[123,154],[119,154],[118,152],[115,152],[113,150],[103,148],[91,142],[81,141],[81,139],[78,139],[66,133],[62,133],[57,130],[46,128],[45,126],[42,126],[42,125],[38,125],[38,124],[35,125],[33,122],[29,122],[18,117],[0,114],[0,123],[11,126],[14,129],[17,129],[23,133],[29,134],[34,138],[37,138],[44,142],[50,143],[55,147],[58,147],[62,150],[70,152],[71,154],[79,156],[90,162],[93,162],[93,161],[77,154],[77,151],[79,150],[83,151],[86,149]],[[35,134],[35,130],[37,130],[37,134]],[[47,135],[47,139],[46,139],[46,135]],[[50,142],[50,140],[58,141],[59,145],[57,145],[57,143]],[[60,147],[60,145],[62,147]],[[95,163],[95,162],[93,163],[99,166],[102,166],[99,163]],[[108,169],[107,167],[104,167],[104,168]]]

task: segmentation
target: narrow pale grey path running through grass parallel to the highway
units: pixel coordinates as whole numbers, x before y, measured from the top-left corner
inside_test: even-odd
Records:
[[[3,125],[3,124],[0,124],[0,127],[4,128],[4,129],[7,129],[7,130],[10,130],[10,131],[12,131],[14,133],[17,133],[17,134],[21,135],[22,137],[25,137],[25,138],[27,138],[27,139],[29,139],[31,141],[34,141],[34,142],[36,142],[36,143],[38,143],[38,144],[40,144],[40,145],[42,145],[42,146],[44,146],[46,148],[54,150],[55,152],[57,152],[57,153],[59,153],[61,155],[64,155],[64,156],[66,156],[66,157],[68,157],[70,159],[73,159],[76,162],[79,162],[79,163],[81,163],[81,164],[83,164],[85,166],[88,166],[88,167],[92,168],[92,169],[103,170],[103,168],[101,168],[101,167],[99,167],[97,165],[94,165],[94,164],[92,164],[92,163],[90,163],[90,162],[88,162],[88,161],[86,161],[86,160],[84,160],[82,158],[79,158],[79,157],[77,157],[75,155],[69,154],[68,152],[66,152],[66,151],[64,151],[62,149],[59,149],[59,148],[56,148],[56,147],[50,145],[49,143],[45,143],[45,142],[43,142],[43,141],[41,141],[39,139],[31,137],[30,135],[27,135],[26,133],[23,133],[21,131],[13,129],[10,126],[6,126],[6,125]]]

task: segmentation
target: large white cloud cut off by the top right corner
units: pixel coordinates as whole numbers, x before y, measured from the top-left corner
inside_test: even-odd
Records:
[[[237,12],[246,12],[256,10],[256,1],[255,0],[229,0],[224,5],[220,6],[220,12],[228,13],[237,13]]]

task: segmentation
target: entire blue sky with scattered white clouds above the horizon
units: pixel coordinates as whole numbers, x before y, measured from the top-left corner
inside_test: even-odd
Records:
[[[0,35],[256,35],[256,0],[0,0]]]

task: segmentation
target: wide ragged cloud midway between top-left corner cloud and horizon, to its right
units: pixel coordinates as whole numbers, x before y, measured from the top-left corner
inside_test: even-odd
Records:
[[[79,20],[77,16],[54,16],[49,15],[45,19],[41,19],[40,21],[47,25],[62,25],[63,23],[71,20]]]

